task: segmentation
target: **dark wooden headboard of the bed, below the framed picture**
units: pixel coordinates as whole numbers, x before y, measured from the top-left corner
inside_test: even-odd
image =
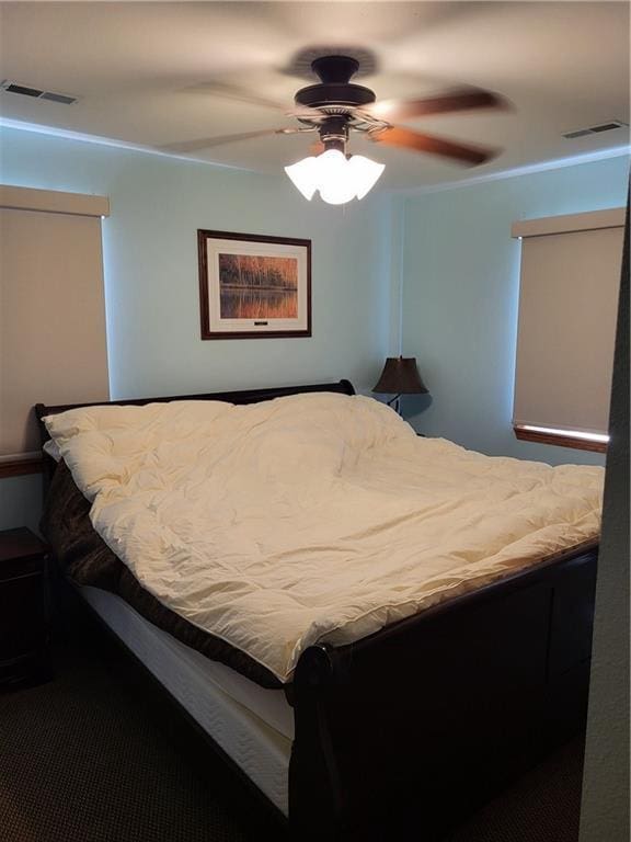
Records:
[[[306,386],[276,386],[269,389],[246,389],[244,391],[211,391],[207,395],[171,395],[160,398],[131,398],[129,400],[96,400],[91,403],[64,403],[56,407],[49,407],[45,403],[35,405],[35,414],[39,426],[39,437],[42,446],[50,439],[46,425],[42,419],[45,416],[56,416],[59,412],[66,412],[68,409],[79,409],[80,407],[142,407],[146,403],[168,403],[171,400],[225,400],[228,403],[260,403],[264,400],[274,400],[274,398],[285,398],[288,395],[303,395],[309,391],[334,391],[339,395],[355,395],[355,389],[351,380],[339,380],[337,383],[317,383]],[[49,458],[49,457],[48,457]],[[45,459],[47,463],[47,459]],[[46,469],[46,468],[45,468]]]

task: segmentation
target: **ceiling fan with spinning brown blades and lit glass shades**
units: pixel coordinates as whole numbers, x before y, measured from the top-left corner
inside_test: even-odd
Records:
[[[497,155],[498,150],[496,149],[457,143],[391,123],[391,120],[404,121],[433,114],[506,107],[506,100],[496,93],[480,89],[466,89],[446,93],[441,96],[403,101],[389,100],[378,103],[376,102],[377,98],[374,91],[351,81],[353,76],[359,70],[359,61],[357,59],[344,55],[321,56],[311,62],[311,69],[318,76],[320,82],[301,88],[295,95],[296,109],[288,114],[288,116],[292,116],[298,121],[299,126],[203,138],[184,144],[173,144],[162,148],[169,151],[191,152],[220,144],[264,137],[266,135],[292,135],[317,132],[319,140],[311,147],[314,157],[307,158],[303,161],[299,161],[298,164],[285,169],[289,178],[291,178],[296,186],[307,198],[311,198],[314,191],[320,190],[324,201],[330,201],[333,204],[341,204],[348,201],[348,198],[353,198],[355,195],[360,198],[370,190],[383,170],[382,164],[376,164],[363,156],[346,155],[348,137],[355,132],[363,133],[376,144],[399,147],[415,152],[438,155],[468,166],[484,163]],[[228,95],[232,99],[253,102],[259,105],[263,104],[283,109],[283,105],[278,103],[250,94],[248,91],[242,91],[231,86],[214,86],[210,88],[210,91],[219,95]],[[355,163],[352,166],[354,160]],[[374,168],[366,167],[364,163],[366,161],[377,167],[379,171],[376,172]],[[333,164],[335,166],[333,167]],[[324,170],[328,172],[324,173]],[[351,170],[353,170],[353,173]],[[368,178],[368,170],[370,170],[370,175],[375,178],[372,178],[368,187],[364,190],[363,186]],[[341,198],[342,194],[346,195],[349,191],[349,186],[344,191],[341,190],[341,179],[348,182],[349,177],[353,175],[357,180],[359,179],[360,171],[364,173],[362,189],[353,191],[352,195],[347,198]],[[345,172],[346,175],[344,175]],[[333,191],[337,196],[336,201],[332,197],[326,198],[326,191],[324,193],[322,191],[320,182],[324,180],[324,175],[328,183],[337,183],[337,190]],[[362,179],[359,180],[362,181]],[[299,181],[305,182],[305,190],[298,183]],[[314,182],[318,183],[314,184]],[[329,194],[330,196],[333,195],[331,191],[329,191]]]

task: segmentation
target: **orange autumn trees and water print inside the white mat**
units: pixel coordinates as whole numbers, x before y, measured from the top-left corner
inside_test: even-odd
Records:
[[[222,319],[295,319],[298,259],[219,253]]]

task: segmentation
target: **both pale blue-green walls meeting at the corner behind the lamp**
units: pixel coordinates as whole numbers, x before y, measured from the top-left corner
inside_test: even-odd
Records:
[[[624,202],[616,158],[443,192],[307,203],[285,177],[0,129],[4,183],[108,195],[103,223],[113,397],[348,377],[369,391],[387,354],[416,356],[431,397],[404,413],[491,454],[601,464],[510,430],[515,219]],[[313,337],[199,340],[197,228],[313,241]],[[62,327],[60,326],[60,329]],[[37,477],[0,482],[0,528],[38,517]]]

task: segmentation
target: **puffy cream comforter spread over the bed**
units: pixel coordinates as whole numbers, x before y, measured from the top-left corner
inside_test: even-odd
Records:
[[[287,681],[345,644],[594,539],[603,469],[420,439],[364,397],[45,419],[107,545],[161,603]]]

